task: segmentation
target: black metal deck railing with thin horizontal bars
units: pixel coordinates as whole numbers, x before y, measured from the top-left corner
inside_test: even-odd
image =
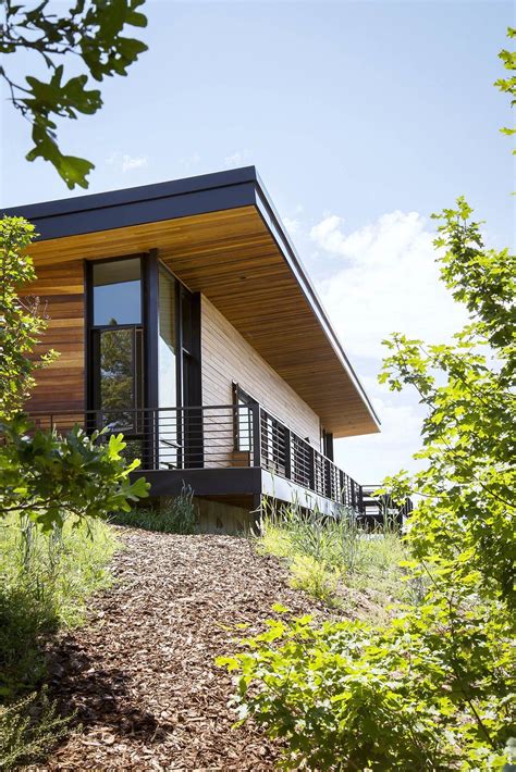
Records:
[[[54,411],[30,418],[36,426],[60,433],[77,424],[88,433],[107,429],[99,441],[123,433],[125,456],[142,459],[143,471],[261,466],[366,518],[378,518],[390,505],[374,498],[376,486],[360,486],[257,403]],[[411,502],[402,510],[408,514]]]

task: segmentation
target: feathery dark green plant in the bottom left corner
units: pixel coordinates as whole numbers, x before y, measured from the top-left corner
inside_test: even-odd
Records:
[[[69,717],[58,714],[45,687],[39,694],[0,706],[0,769],[20,769],[45,757],[66,734],[69,723]]]

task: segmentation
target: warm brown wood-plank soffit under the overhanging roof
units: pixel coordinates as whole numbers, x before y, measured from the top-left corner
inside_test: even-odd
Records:
[[[378,431],[366,398],[256,207],[37,241],[30,253],[39,270],[58,261],[150,249],[158,249],[188,289],[210,299],[327,431],[335,437]]]

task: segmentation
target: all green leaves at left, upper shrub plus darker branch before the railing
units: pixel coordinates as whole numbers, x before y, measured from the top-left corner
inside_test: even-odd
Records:
[[[67,512],[83,519],[126,511],[149,486],[130,481],[139,462],[126,464],[122,435],[88,437],[76,427],[61,437],[36,431],[21,413],[34,369],[56,357],[34,356],[46,319],[37,298],[17,295],[36,277],[25,254],[33,236],[22,217],[0,220],[0,518],[17,511],[48,531]]]

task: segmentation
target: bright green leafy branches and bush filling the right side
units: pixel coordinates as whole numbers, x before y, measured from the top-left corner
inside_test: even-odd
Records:
[[[385,483],[418,495],[405,561],[422,603],[389,623],[270,622],[221,660],[242,719],[286,740],[297,769],[502,769],[514,749],[515,261],[486,249],[463,199],[435,241],[470,323],[452,343],[394,335],[381,376],[427,408],[426,462]],[[284,548],[284,545],[283,545]],[[513,744],[513,745],[512,745]]]

